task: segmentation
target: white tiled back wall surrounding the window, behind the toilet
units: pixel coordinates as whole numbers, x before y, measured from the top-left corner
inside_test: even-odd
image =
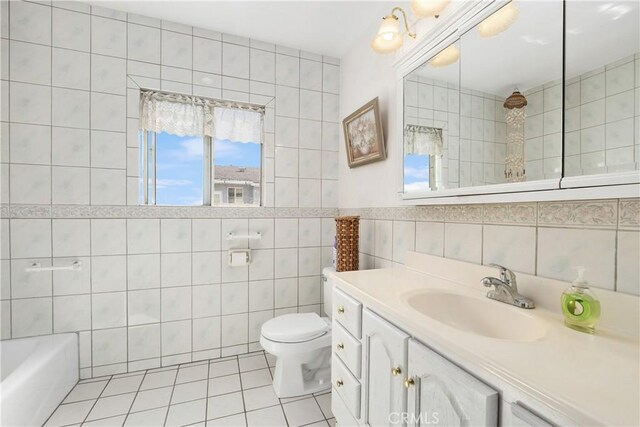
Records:
[[[321,217],[337,207],[338,61],[75,6],[11,2],[2,27],[2,203],[64,212],[2,219],[1,337],[79,331],[88,377],[256,350],[274,315],[320,312],[334,226]],[[191,208],[78,215],[138,203],[141,86],[267,105],[266,207],[233,219]],[[276,218],[274,207],[295,209]],[[226,249],[249,245],[230,244],[230,231],[262,233],[250,267],[227,266]],[[24,272],[75,259],[82,270]]]

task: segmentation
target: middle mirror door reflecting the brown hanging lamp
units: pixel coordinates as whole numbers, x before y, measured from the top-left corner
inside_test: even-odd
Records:
[[[460,44],[460,186],[559,178],[562,2],[514,0]]]

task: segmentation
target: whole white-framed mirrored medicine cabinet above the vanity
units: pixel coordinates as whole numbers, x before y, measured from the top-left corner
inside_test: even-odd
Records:
[[[403,198],[637,192],[640,3],[474,7],[399,61]]]

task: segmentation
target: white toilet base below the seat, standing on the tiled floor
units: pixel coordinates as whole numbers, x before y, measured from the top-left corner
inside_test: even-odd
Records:
[[[277,358],[273,389],[278,398],[318,393],[330,388],[331,347]]]

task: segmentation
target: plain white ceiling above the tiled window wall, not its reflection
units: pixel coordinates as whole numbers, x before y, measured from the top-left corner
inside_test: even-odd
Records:
[[[94,0],[90,3],[341,58],[393,1]]]

